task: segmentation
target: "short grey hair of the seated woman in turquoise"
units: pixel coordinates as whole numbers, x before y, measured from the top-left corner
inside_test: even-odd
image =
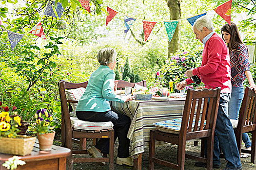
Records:
[[[116,60],[117,52],[113,48],[104,48],[98,51],[98,62],[100,65],[108,65],[114,63]]]

